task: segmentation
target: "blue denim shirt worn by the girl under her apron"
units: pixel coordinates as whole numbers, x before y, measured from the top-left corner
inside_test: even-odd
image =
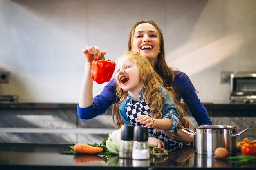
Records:
[[[172,128],[170,130],[166,130],[167,132],[175,132],[177,133],[177,126],[179,125],[180,122],[180,114],[173,102],[172,97],[164,90],[163,87],[159,87],[158,89],[159,92],[162,92],[162,95],[164,95],[165,97],[162,97],[162,103],[163,103],[163,107],[162,107],[162,119],[163,118],[169,118],[172,121]],[[135,101],[132,99],[132,97],[128,94],[128,97],[130,99],[130,101],[132,101],[132,104],[137,103],[138,101]],[[139,92],[139,100],[142,101],[143,95],[142,95],[142,90]],[[121,103],[120,107],[119,107],[119,113],[121,115],[121,118],[124,121],[125,125],[130,125],[130,122],[128,120],[128,117],[126,115],[126,108],[127,104],[126,104],[126,99],[124,99],[124,101]],[[149,134],[150,135],[150,134]],[[151,135],[150,135],[151,136]]]

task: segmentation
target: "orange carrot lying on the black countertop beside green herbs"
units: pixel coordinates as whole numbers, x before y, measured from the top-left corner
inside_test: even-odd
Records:
[[[103,152],[103,148],[93,147],[93,146],[90,146],[90,145],[87,145],[87,144],[75,144],[74,151],[79,152],[79,153],[94,154],[94,153]]]

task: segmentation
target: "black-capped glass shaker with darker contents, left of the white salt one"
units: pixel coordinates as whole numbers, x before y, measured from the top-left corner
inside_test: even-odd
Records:
[[[134,126],[132,125],[121,126],[120,158],[132,158],[133,129]]]

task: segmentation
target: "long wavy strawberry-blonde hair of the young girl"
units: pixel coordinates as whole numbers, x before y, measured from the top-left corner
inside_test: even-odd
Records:
[[[182,124],[185,128],[189,128],[190,124],[183,117],[183,109],[180,107],[179,103],[175,101],[175,92],[173,88],[168,87],[164,89],[164,91],[159,92],[159,87],[164,86],[164,82],[162,78],[155,72],[153,68],[153,62],[148,60],[145,56],[142,56],[140,53],[127,51],[121,57],[128,57],[128,60],[134,62],[140,69],[140,79],[141,84],[143,86],[143,99],[146,101],[151,110],[150,112],[153,113],[155,119],[162,119],[162,98],[165,97],[162,93],[166,91],[175,102],[176,108],[180,113],[180,124]],[[119,98],[118,106],[126,99],[128,92],[124,91],[116,82],[116,89],[117,89],[117,97]],[[114,113],[114,112],[113,112]],[[120,127],[123,123],[119,109],[116,109],[116,114],[112,114],[112,118],[114,123]]]

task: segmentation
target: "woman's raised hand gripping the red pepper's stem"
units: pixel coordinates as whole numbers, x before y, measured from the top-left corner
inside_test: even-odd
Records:
[[[89,65],[92,65],[92,60],[95,58],[101,58],[101,51],[98,46],[85,46],[85,49],[82,49],[82,52],[85,54],[86,62]],[[102,51],[103,55],[106,54],[106,51]]]

